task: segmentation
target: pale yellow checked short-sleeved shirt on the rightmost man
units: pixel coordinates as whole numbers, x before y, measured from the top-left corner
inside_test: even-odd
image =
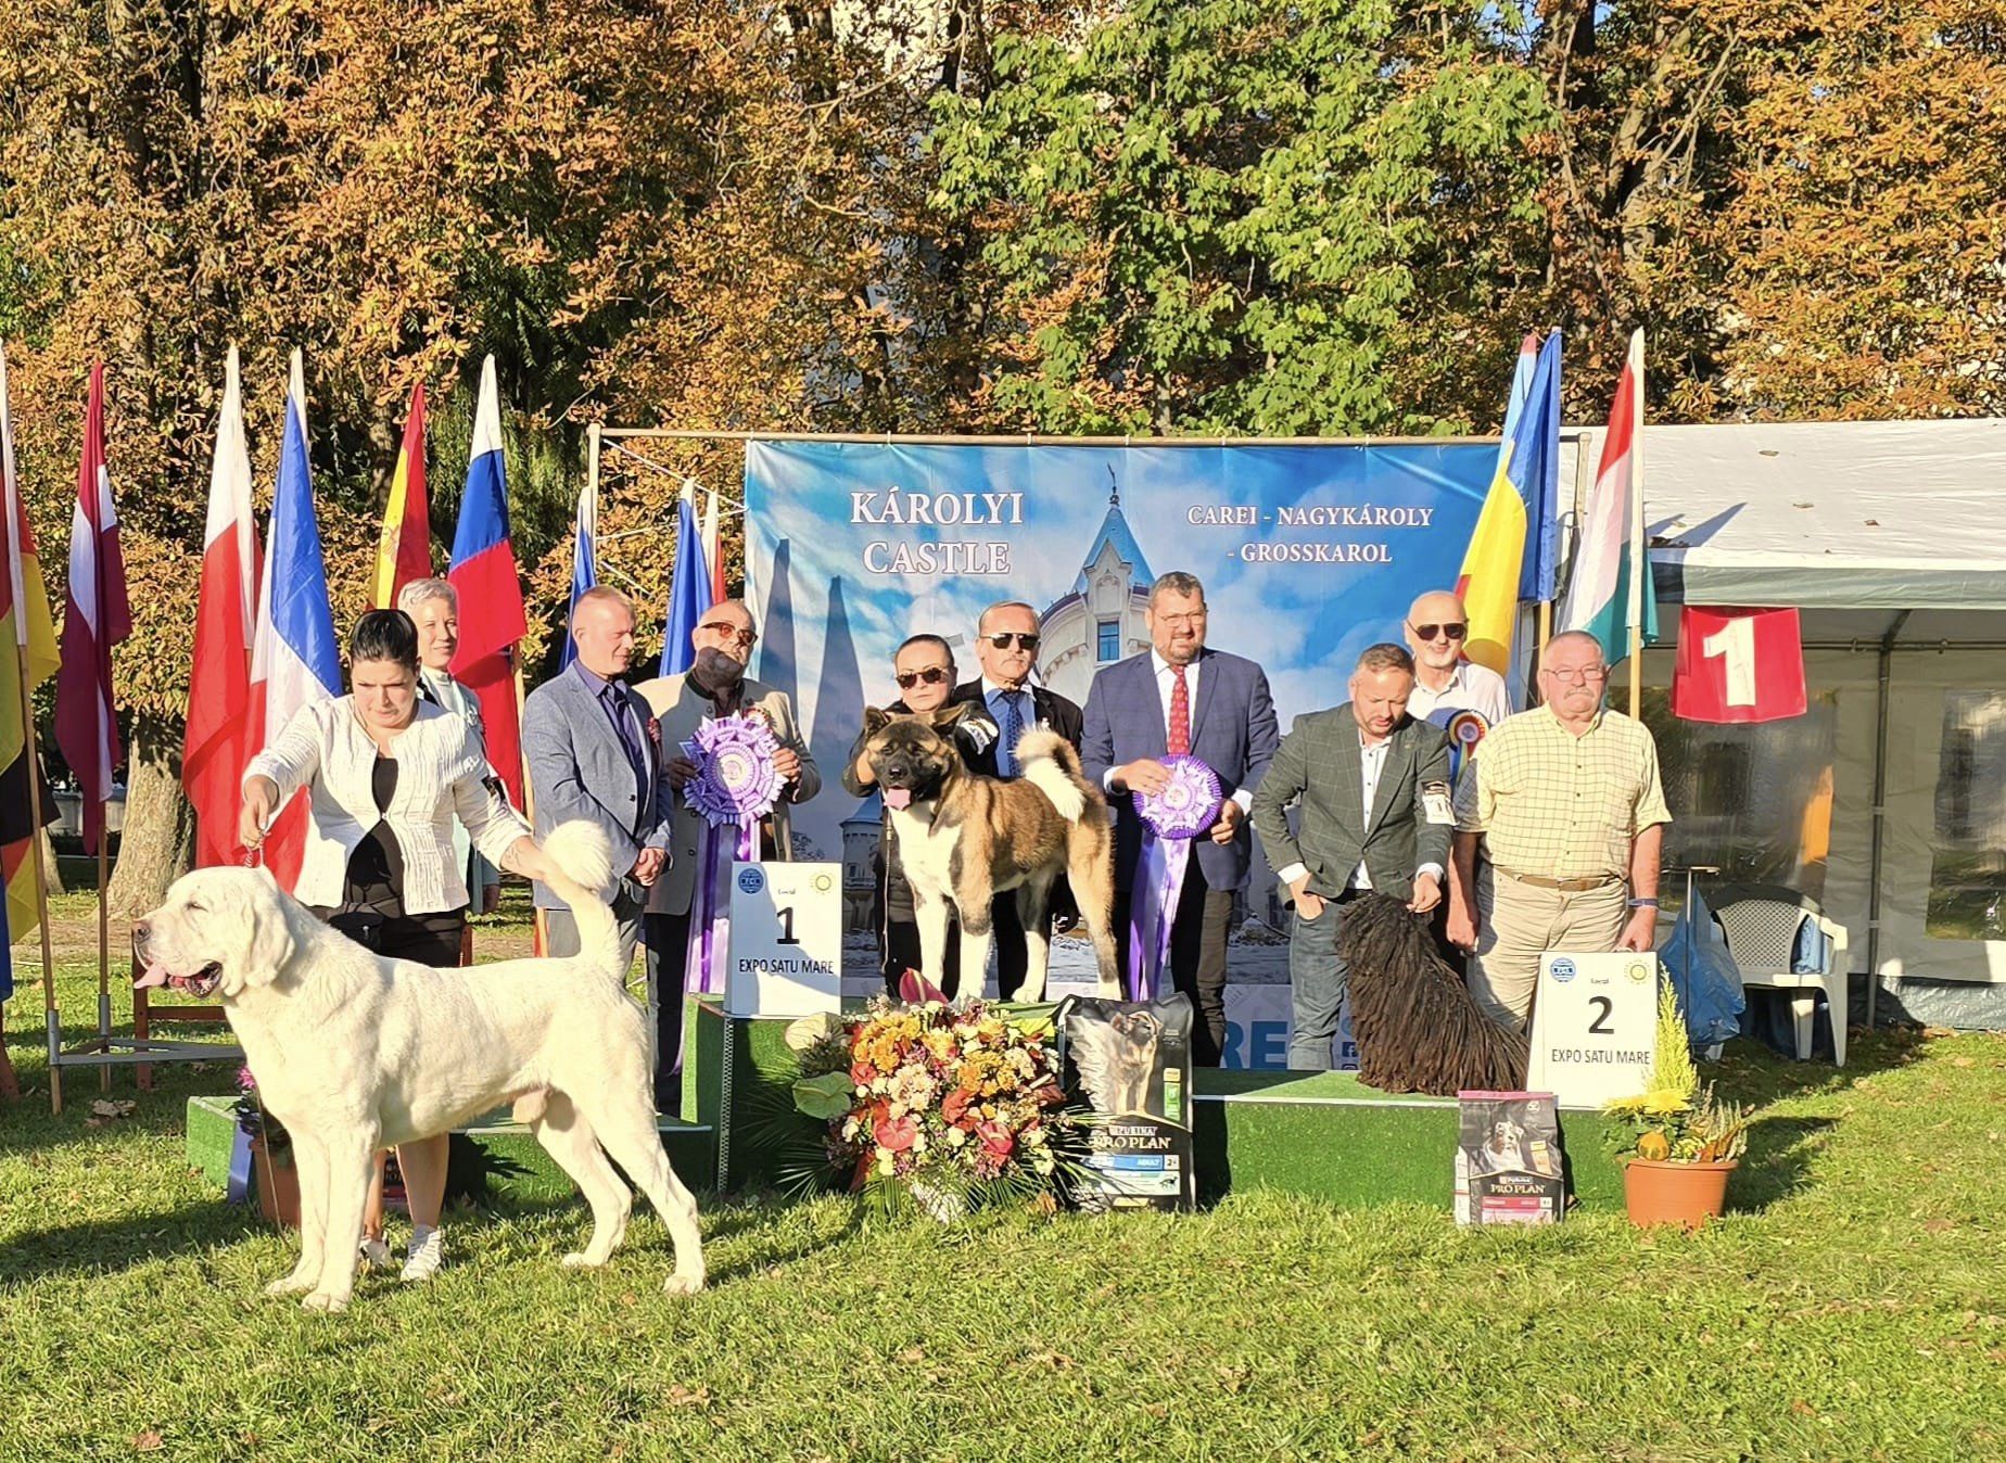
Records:
[[[1456,831],[1484,835],[1484,853],[1511,873],[1621,879],[1637,833],[1671,823],[1657,743],[1617,710],[1581,737],[1547,706],[1507,716],[1470,767],[1476,775],[1456,781]]]

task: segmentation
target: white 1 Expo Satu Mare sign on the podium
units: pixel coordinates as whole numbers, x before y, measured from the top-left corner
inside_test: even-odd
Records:
[[[732,865],[726,1015],[843,1009],[843,865]]]

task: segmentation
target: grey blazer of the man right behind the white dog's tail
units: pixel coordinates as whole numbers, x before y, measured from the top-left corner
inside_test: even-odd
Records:
[[[592,688],[574,668],[530,692],[522,706],[522,749],[530,763],[530,791],[536,801],[536,837],[542,841],[560,823],[584,819],[600,827],[614,845],[614,869],[626,875],[642,849],[668,849],[674,803],[662,775],[662,749],[648,737],[654,712],[632,686],[622,686],[634,724],[642,730],[648,757],[648,789],[638,787],[620,733],[606,718]],[[622,879],[636,899],[640,887]],[[568,905],[536,885],[538,909]]]

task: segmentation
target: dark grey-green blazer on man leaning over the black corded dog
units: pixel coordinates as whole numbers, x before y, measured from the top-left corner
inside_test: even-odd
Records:
[[[1380,771],[1372,817],[1366,817],[1358,720],[1350,702],[1296,716],[1254,791],[1254,829],[1278,871],[1300,863],[1310,893],[1336,899],[1360,861],[1372,887],[1406,899],[1414,869],[1448,867],[1450,821],[1430,821],[1422,789],[1448,797],[1448,737],[1440,726],[1404,718],[1394,726]],[[1300,827],[1290,833],[1288,807],[1302,799]],[[1444,809],[1446,813],[1446,809]]]

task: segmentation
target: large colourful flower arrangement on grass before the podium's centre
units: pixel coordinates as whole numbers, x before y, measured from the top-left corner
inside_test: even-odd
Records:
[[[788,1030],[794,1106],[828,1124],[826,1158],[853,1192],[913,1198],[941,1222],[1001,1198],[1051,1206],[1085,1146],[1051,1034],[1049,1017],[1013,1019],[983,1001],[881,995],[861,1017]]]

